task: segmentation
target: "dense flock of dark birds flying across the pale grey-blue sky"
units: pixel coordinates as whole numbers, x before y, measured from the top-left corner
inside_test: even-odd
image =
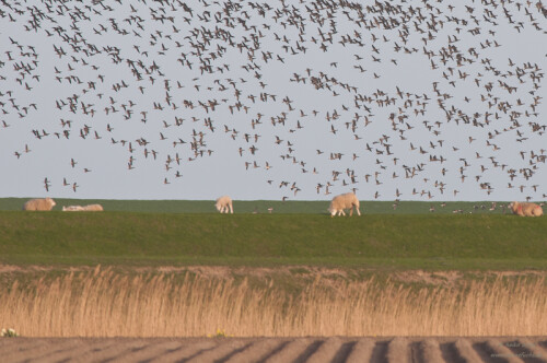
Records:
[[[545,199],[547,55],[507,57],[503,35],[546,25],[542,1],[2,0],[0,138],[32,132],[2,157],[53,139],[160,164],[165,185],[230,157],[283,200]]]

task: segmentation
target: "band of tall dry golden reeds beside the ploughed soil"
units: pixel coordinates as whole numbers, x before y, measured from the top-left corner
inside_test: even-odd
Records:
[[[26,337],[544,336],[545,278],[412,289],[373,279],[307,283],[173,273],[70,273],[0,293],[0,321]]]

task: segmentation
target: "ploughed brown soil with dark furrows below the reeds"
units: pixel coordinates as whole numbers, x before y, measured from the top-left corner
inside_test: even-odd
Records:
[[[546,363],[547,338],[3,338],[2,362]]]

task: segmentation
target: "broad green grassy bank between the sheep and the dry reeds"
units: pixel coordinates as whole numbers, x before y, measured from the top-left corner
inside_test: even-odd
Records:
[[[547,269],[547,219],[0,212],[15,264]]]

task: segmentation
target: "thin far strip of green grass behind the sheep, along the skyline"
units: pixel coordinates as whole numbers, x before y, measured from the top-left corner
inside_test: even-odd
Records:
[[[0,211],[19,211],[23,203],[30,198],[0,198]],[[104,199],[61,199],[55,198],[57,206],[54,210],[61,210],[62,206],[101,203],[107,211],[126,212],[159,212],[159,213],[213,213],[214,201],[212,200],[104,200]],[[508,202],[498,202],[498,207]],[[268,208],[274,208],[274,213],[327,213],[329,201],[287,201],[279,200],[236,200],[234,209],[236,213],[251,213],[258,211],[267,213]],[[361,201],[361,212],[368,214],[427,214],[433,206],[435,214],[452,214],[454,210],[463,210],[465,213],[501,214],[502,209],[489,211],[490,201],[475,202],[447,202],[441,207],[441,202],[428,201],[400,201],[397,209],[393,209],[393,201]],[[484,209],[482,209],[484,208]]]

